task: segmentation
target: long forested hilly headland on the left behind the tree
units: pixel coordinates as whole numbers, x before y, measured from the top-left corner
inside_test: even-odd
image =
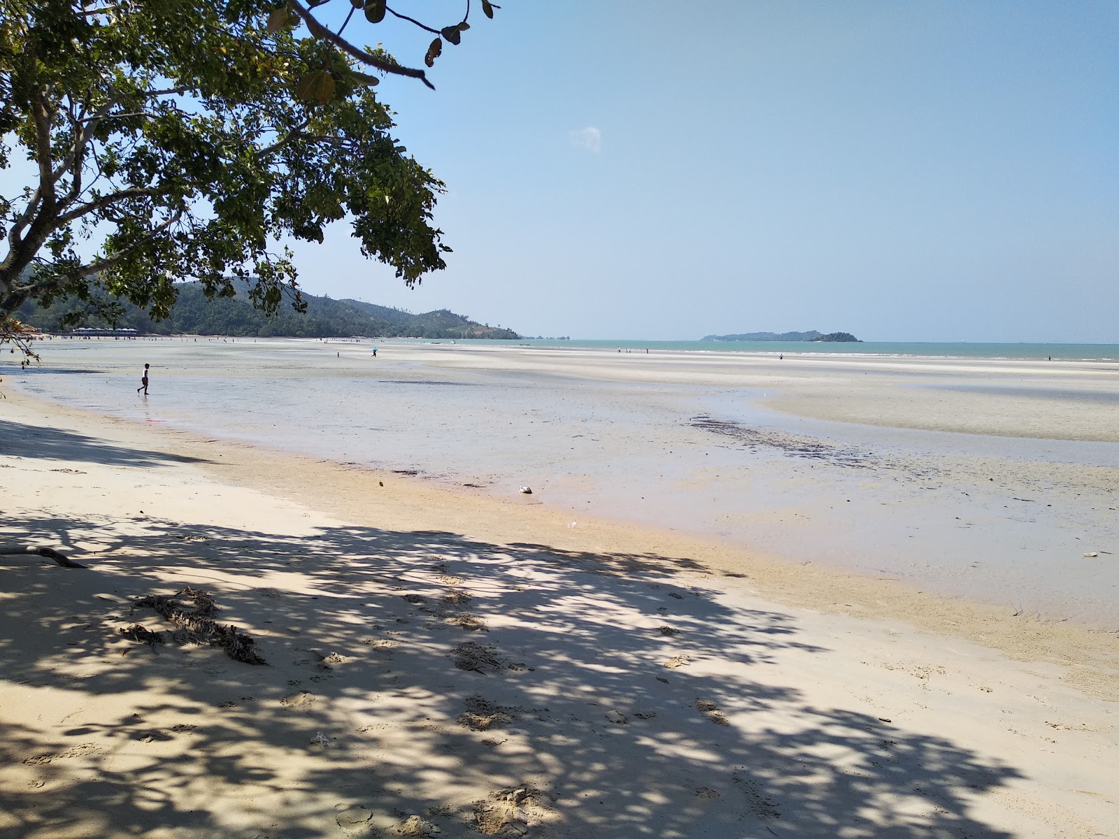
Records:
[[[166,320],[153,321],[139,307],[123,303],[113,323],[87,312],[81,301],[55,301],[49,307],[25,303],[16,317],[37,329],[65,332],[76,327],[134,329],[140,334],[222,334],[256,338],[520,338],[511,329],[478,323],[464,314],[440,309],[413,314],[359,300],[332,300],[304,292],[307,312],[282,307],[269,318],[248,302],[246,285],[232,298],[209,300],[197,282],[179,285],[179,299]]]

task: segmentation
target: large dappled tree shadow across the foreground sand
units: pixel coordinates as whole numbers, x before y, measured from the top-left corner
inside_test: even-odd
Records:
[[[0,723],[3,836],[1009,836],[972,804],[1013,767],[815,707],[773,666],[822,651],[793,619],[642,557],[159,520],[74,556],[0,569],[0,700],[44,704]],[[269,666],[121,639],[182,585]]]

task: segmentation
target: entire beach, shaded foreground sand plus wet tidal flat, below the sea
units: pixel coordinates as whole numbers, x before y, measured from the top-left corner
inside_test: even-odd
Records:
[[[251,348],[219,350],[220,390],[171,341],[91,351],[85,389],[0,384],[0,543],[88,566],[0,565],[0,836],[1119,831],[1106,365]],[[348,462],[170,396],[294,400],[309,352],[323,387],[379,385]],[[103,398],[141,353],[166,402]],[[568,413],[532,413],[540,380]],[[441,416],[408,402],[436,389]],[[487,411],[501,453],[471,472]],[[627,493],[653,466],[649,511]],[[266,663],[138,605],[160,595],[211,598]]]

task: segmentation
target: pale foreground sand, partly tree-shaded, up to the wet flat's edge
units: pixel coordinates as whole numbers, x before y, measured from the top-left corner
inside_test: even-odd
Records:
[[[8,396],[0,836],[1119,832],[1113,635]]]

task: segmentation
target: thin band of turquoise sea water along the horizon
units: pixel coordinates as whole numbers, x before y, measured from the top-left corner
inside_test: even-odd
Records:
[[[450,343],[450,341],[427,341]],[[1053,358],[1065,360],[1119,360],[1119,343],[971,343],[863,341],[859,343],[822,343],[809,341],[631,341],[631,340],[555,340],[528,338],[519,341],[463,341],[463,343],[508,343],[534,347],[571,347],[641,351],[704,352],[855,352],[881,356],[931,356],[955,358]]]

